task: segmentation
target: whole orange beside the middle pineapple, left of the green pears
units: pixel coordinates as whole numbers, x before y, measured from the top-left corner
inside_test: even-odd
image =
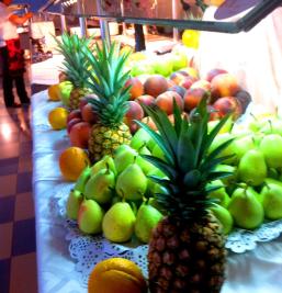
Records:
[[[90,165],[87,153],[79,147],[69,147],[59,156],[59,169],[68,181],[76,181],[82,170]]]

